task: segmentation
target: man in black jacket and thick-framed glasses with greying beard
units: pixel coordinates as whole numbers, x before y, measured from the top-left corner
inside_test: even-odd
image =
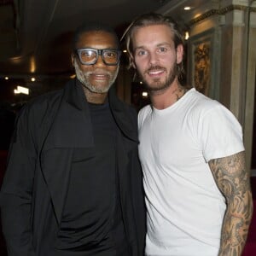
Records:
[[[143,255],[137,114],[113,88],[119,42],[108,26],[73,40],[77,79],[20,112],[1,189],[10,256]]]

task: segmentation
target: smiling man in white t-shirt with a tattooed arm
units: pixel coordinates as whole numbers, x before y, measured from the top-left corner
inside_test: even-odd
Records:
[[[183,37],[173,20],[137,17],[126,44],[152,102],[138,118],[146,255],[241,255],[253,211],[241,125],[179,82]]]

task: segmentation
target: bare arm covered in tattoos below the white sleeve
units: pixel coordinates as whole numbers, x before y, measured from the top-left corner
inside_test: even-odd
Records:
[[[218,256],[239,256],[253,215],[250,175],[246,171],[244,152],[210,160],[209,166],[227,203]]]

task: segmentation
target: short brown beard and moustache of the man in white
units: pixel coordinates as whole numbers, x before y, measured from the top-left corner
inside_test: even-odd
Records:
[[[167,73],[167,77],[164,81],[161,81],[160,79],[153,79],[152,82],[148,82],[147,79],[145,79],[146,73],[153,71],[153,70],[154,71],[157,71],[157,70],[166,71],[166,68],[160,67],[160,66],[154,66],[154,67],[148,68],[148,70],[146,70],[146,72],[144,72],[143,74],[142,73],[140,74],[141,78],[143,79],[143,84],[145,84],[146,89],[151,93],[157,93],[162,90],[166,90],[167,88],[169,88],[172,85],[172,82],[177,77],[177,63],[174,63],[174,65],[170,69],[169,73]]]

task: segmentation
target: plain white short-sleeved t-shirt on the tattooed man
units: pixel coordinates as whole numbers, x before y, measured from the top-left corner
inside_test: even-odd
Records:
[[[143,108],[138,127],[146,255],[218,255],[226,205],[207,162],[244,150],[241,125],[193,88],[169,108]]]

